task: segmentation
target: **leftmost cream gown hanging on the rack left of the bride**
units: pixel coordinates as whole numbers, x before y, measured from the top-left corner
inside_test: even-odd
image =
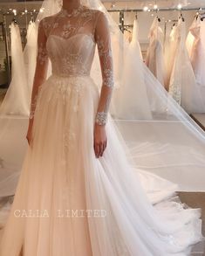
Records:
[[[24,66],[21,35],[17,24],[10,24],[11,83],[0,107],[0,114],[28,114],[30,102]],[[12,81],[15,81],[12,83]]]

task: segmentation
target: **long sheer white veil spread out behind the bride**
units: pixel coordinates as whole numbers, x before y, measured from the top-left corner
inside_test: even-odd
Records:
[[[161,83],[143,63],[139,51],[126,41],[118,24],[113,21],[99,0],[81,0],[81,4],[103,11],[111,32],[114,90],[110,112],[120,140],[131,152],[135,167],[148,170],[167,180],[178,183],[180,190],[205,190],[205,133],[195,121],[170,97]],[[57,13],[61,2],[44,0],[36,20]],[[28,35],[28,41],[33,36]],[[35,45],[27,44],[24,59],[29,59]],[[31,50],[32,49],[32,50]],[[31,80],[35,61],[25,65],[25,73]],[[30,71],[29,71],[30,70]],[[30,75],[28,75],[30,74]],[[51,74],[49,68],[48,76]],[[92,64],[92,79],[101,86],[98,53]],[[12,87],[18,83],[14,76],[3,106],[10,102]],[[31,81],[27,81],[24,100],[31,101]],[[14,99],[16,104],[21,101]],[[9,111],[0,109],[0,198],[12,196],[17,186],[18,174],[24,160],[27,142],[28,108]],[[16,108],[15,108],[16,110]],[[156,184],[157,186],[157,184]]]

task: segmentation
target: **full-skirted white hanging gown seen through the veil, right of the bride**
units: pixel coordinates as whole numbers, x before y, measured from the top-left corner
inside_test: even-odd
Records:
[[[127,45],[126,56],[123,58],[123,64],[126,66],[121,78],[123,86],[113,93],[111,104],[111,113],[115,118],[133,119],[133,116],[139,120],[152,120],[151,104],[147,95],[147,86],[144,73],[141,72],[143,64],[138,39],[139,26],[137,20],[133,23],[132,41]],[[119,53],[119,56],[121,52]],[[133,72],[134,70],[134,72]],[[136,83],[137,81],[137,83]],[[129,102],[124,105],[122,102]]]

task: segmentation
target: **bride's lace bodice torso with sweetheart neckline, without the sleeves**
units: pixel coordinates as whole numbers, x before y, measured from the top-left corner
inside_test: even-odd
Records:
[[[46,52],[52,73],[60,76],[89,75],[91,70],[95,24],[100,13],[85,9],[78,14],[69,18],[67,10],[62,9],[54,17],[45,17],[41,24],[47,37]]]

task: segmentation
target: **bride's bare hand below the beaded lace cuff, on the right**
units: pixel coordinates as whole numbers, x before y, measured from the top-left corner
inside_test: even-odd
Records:
[[[95,156],[99,158],[99,156],[103,156],[103,153],[106,149],[106,126],[99,125],[95,123],[94,127],[94,151]]]

